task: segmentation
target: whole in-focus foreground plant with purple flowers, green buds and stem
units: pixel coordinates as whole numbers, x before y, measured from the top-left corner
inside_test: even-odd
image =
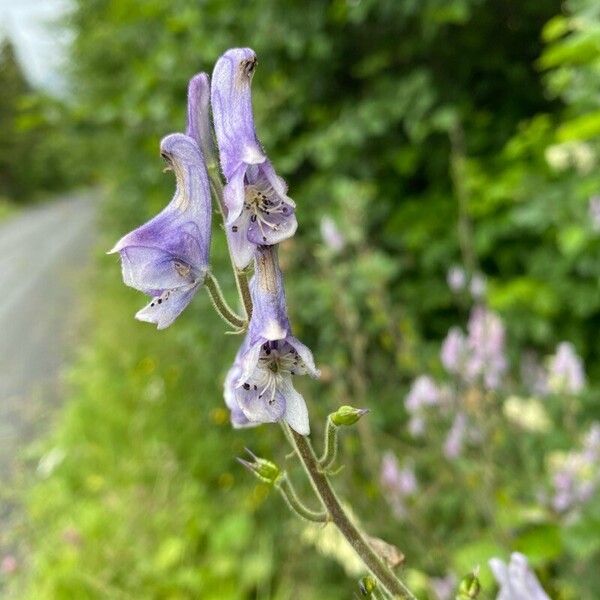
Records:
[[[310,349],[293,336],[287,314],[278,244],[296,231],[296,206],[255,131],[251,82],[256,66],[253,50],[236,48],[219,58],[212,83],[206,73],[191,79],[186,134],[171,134],[161,142],[161,155],[175,173],[173,199],[159,215],[125,235],[112,252],[121,257],[125,284],[149,297],[136,318],[158,329],[172,325],[195,294],[207,290],[232,332],[244,336],[224,382],[233,427],[279,423],[320,509],[305,506],[288,474],[273,462],[251,452],[240,462],[273,485],[299,517],[339,529],[371,573],[361,581],[361,593],[414,599],[393,570],[397,561],[390,560],[401,553],[390,552],[389,544],[362,531],[330,482],[338,430],[356,423],[366,411],[342,406],[330,414],[320,457],[307,437],[309,410],[293,382],[301,375],[319,377],[319,370]],[[227,238],[240,310],[225,300],[210,270],[211,198],[222,219],[218,230]],[[328,236],[335,237],[331,232]]]

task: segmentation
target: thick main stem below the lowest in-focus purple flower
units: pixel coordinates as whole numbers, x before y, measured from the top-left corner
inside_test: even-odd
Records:
[[[365,566],[371,571],[381,585],[394,597],[416,600],[413,593],[400,581],[393,571],[379,558],[375,550],[367,543],[363,533],[350,521],[342,508],[329,480],[321,472],[319,463],[310,442],[294,430],[290,430],[295,450],[310,478],[315,492],[327,508],[329,518],[342,535],[348,540]]]

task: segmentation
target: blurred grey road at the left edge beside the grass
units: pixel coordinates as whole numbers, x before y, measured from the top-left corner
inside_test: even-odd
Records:
[[[91,196],[72,196],[0,223],[0,529],[23,450],[44,431],[60,397],[60,369],[72,347],[93,241],[94,203]]]

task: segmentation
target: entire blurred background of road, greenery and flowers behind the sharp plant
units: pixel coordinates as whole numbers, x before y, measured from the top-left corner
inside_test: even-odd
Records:
[[[166,331],[104,252],[171,197],[162,136],[227,48],[298,205],[281,251],[317,445],[419,598],[525,553],[600,597],[596,0],[0,0],[0,594],[351,598],[360,565],[235,462],[239,340]],[[213,270],[233,301],[224,242]],[[298,487],[301,474],[288,461]]]

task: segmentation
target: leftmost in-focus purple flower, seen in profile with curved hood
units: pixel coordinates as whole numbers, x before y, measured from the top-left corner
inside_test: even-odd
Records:
[[[165,137],[162,157],[177,189],[167,207],[121,238],[110,253],[121,256],[123,281],[152,298],[135,316],[168,327],[204,282],[210,252],[208,176],[196,142],[182,133]]]

